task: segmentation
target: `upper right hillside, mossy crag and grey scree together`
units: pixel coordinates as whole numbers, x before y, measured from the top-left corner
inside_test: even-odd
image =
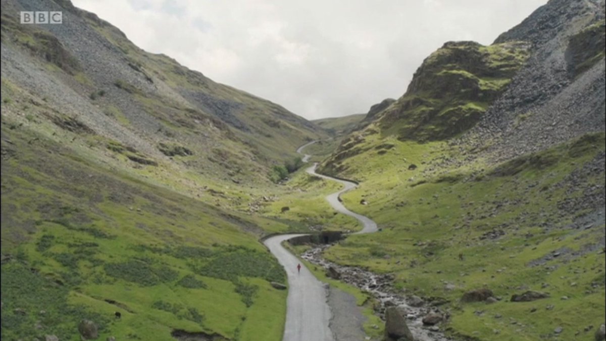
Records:
[[[505,160],[601,131],[604,31],[604,1],[551,0],[491,46],[447,42],[401,98],[344,139],[324,170],[337,170],[376,133],[399,141],[457,137]]]

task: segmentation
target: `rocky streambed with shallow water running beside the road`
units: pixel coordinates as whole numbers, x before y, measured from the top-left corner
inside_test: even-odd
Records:
[[[330,245],[315,246],[301,257],[324,268],[329,277],[370,292],[381,303],[381,306],[375,308],[375,311],[382,320],[385,321],[387,308],[398,309],[416,341],[451,340],[445,337],[441,331],[440,325],[448,316],[438,307],[432,306],[416,296],[404,297],[396,294],[391,286],[393,282],[391,275],[379,275],[353,266],[341,266],[328,262],[322,257],[322,252],[327,248],[330,248]]]

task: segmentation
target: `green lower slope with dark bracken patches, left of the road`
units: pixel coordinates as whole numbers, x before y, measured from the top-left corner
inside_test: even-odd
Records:
[[[284,271],[258,237],[287,225],[36,136],[3,118],[2,339],[76,340],[84,318],[102,338],[171,340],[184,329],[281,339],[286,292],[269,282],[285,282]]]

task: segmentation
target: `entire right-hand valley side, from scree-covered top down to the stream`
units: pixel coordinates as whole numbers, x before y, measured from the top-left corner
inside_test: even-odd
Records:
[[[504,78],[478,72],[486,59],[473,56],[502,44],[524,58]],[[322,162],[361,181],[342,200],[382,230],[324,256],[393,274],[396,290],[441,307],[455,339],[593,337],[606,318],[603,46],[604,1],[551,0],[492,46],[448,43],[427,58],[404,96]],[[483,79],[502,86],[478,105]],[[478,110],[445,115],[466,106]],[[493,303],[462,299],[481,288]],[[513,302],[528,290],[547,297]]]

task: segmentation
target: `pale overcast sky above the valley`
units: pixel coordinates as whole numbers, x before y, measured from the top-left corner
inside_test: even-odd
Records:
[[[315,119],[401,96],[446,41],[490,44],[547,0],[73,0],[144,50]]]

